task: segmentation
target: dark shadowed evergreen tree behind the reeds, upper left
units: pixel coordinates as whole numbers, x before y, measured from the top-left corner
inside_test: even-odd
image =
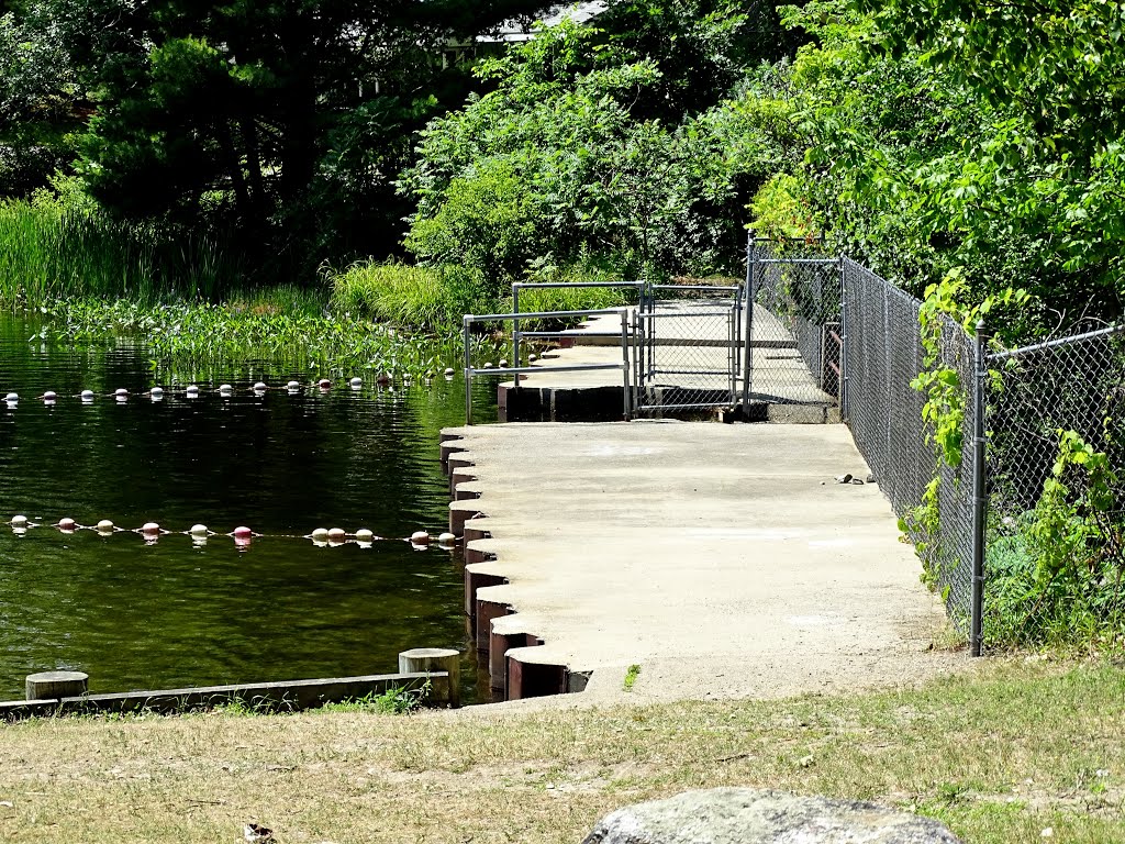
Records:
[[[393,180],[439,107],[446,41],[547,5],[28,2],[96,109],[76,167],[104,207],[234,226],[306,270],[397,241]]]

